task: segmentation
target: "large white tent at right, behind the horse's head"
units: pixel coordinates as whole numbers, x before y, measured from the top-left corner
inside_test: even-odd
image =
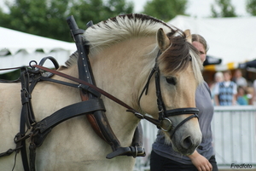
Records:
[[[207,54],[222,59],[215,70],[233,69],[256,59],[256,17],[199,19],[177,15],[168,24],[205,37],[210,47]]]

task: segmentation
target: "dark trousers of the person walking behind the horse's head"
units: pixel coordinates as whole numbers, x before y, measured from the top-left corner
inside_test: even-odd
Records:
[[[212,164],[212,171],[218,171],[217,162],[214,156],[209,159],[209,162]],[[151,151],[150,171],[197,171],[197,169],[193,164],[175,162]]]

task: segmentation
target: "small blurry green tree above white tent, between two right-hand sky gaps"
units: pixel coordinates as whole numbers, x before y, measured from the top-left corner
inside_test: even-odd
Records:
[[[237,17],[235,7],[231,4],[230,0],[215,0],[216,5],[220,9],[215,9],[215,6],[211,5],[212,17]]]

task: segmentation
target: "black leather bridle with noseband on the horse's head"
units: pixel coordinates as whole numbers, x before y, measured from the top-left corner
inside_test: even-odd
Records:
[[[148,94],[148,86],[149,86],[149,82],[151,80],[151,77],[155,78],[155,91],[156,91],[156,97],[157,97],[157,105],[158,105],[158,112],[159,112],[159,120],[160,120],[160,126],[158,126],[158,128],[161,128],[163,131],[170,131],[172,128],[172,134],[171,134],[171,139],[173,134],[177,131],[177,128],[180,128],[183,123],[186,123],[187,121],[189,121],[190,119],[192,119],[193,117],[197,117],[198,118],[198,113],[199,110],[195,107],[185,107],[185,108],[177,108],[177,109],[172,109],[172,110],[166,110],[166,105],[162,99],[162,95],[161,95],[161,89],[160,89],[160,69],[157,63],[157,59],[160,56],[160,51],[157,54],[157,57],[155,59],[155,64],[154,67],[152,69],[152,71],[150,72],[149,76],[148,76],[148,81],[145,85],[145,87],[143,88],[142,93],[139,96],[139,103],[140,100],[143,96],[143,93],[145,92],[145,95]],[[178,115],[184,115],[184,114],[193,114],[187,118],[185,118],[181,123],[178,123],[177,126],[174,128],[172,125],[172,121],[168,118],[168,117],[174,117],[174,116],[178,116]]]

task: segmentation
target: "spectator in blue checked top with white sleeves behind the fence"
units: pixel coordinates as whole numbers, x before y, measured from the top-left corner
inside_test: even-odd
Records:
[[[215,88],[215,104],[216,105],[236,105],[237,86],[231,81],[231,72],[224,71],[224,82],[218,83]]]

